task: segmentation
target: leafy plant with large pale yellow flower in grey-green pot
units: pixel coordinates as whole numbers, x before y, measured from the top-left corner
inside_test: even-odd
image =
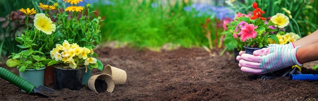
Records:
[[[43,85],[45,65],[50,61],[46,56],[46,50],[54,44],[50,41],[54,39],[52,32],[55,31],[56,26],[44,13],[37,14],[36,10],[29,8],[22,8],[20,11],[26,14],[26,29],[20,37],[16,38],[16,41],[20,43],[17,46],[22,51],[12,53],[6,64],[8,67],[19,69],[20,77],[38,87]],[[33,14],[36,15],[33,16]],[[34,23],[29,26],[29,18],[33,17]]]

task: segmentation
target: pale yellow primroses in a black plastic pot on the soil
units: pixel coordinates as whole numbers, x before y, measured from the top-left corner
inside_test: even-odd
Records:
[[[52,61],[48,65],[54,66],[55,89],[69,88],[79,90],[85,68],[103,66],[92,57],[94,52],[77,43],[70,44],[67,40],[63,44],[56,44],[50,51]]]

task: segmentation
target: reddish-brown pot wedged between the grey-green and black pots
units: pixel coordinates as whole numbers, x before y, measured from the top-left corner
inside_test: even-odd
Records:
[[[44,85],[48,86],[50,84],[54,84],[54,68],[53,66],[46,66],[44,70]]]

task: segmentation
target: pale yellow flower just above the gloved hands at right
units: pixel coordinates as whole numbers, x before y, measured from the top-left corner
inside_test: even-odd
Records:
[[[270,20],[275,23],[276,27],[279,28],[283,28],[289,24],[288,16],[285,16],[282,13],[277,13],[276,15],[272,16]]]

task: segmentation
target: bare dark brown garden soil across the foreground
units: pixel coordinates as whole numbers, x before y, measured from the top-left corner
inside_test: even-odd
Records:
[[[0,100],[316,100],[318,81],[258,78],[240,71],[233,53],[219,56],[203,48],[154,52],[147,49],[99,47],[99,59],[126,71],[127,80],[113,92],[61,89],[43,97],[27,94],[0,78]],[[0,66],[18,75],[16,68]],[[305,65],[306,66],[306,65]],[[304,67],[303,74],[318,74]],[[92,75],[102,74],[94,69]],[[270,75],[276,75],[271,73]],[[47,85],[54,89],[54,85]],[[105,88],[104,88],[105,89]]]

